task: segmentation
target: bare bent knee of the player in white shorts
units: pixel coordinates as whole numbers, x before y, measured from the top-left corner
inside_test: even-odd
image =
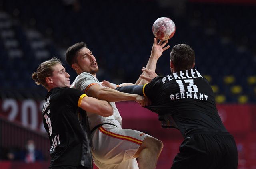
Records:
[[[148,136],[146,137],[140,148],[133,156],[138,157],[138,165],[140,169],[155,169],[158,157],[162,151],[163,143],[162,141]]]

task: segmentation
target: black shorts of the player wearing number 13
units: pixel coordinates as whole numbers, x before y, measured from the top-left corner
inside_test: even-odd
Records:
[[[236,142],[228,133],[192,134],[185,137],[171,169],[237,169]]]

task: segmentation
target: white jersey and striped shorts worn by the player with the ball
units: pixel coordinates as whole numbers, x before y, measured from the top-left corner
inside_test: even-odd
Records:
[[[76,77],[71,88],[77,88],[86,93],[92,85],[101,84],[92,74],[81,73]],[[133,156],[138,151],[142,141],[149,135],[132,129],[122,129],[122,118],[116,104],[114,102],[110,102],[110,104],[114,109],[112,116],[102,117],[87,112],[91,130],[95,126],[103,124],[91,135],[94,163],[99,169],[138,169],[138,163]]]

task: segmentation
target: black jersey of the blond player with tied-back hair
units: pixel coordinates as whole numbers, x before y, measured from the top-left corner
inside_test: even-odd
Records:
[[[44,100],[42,115],[51,144],[50,167],[92,168],[88,118],[80,108],[84,96],[76,89],[53,88]]]

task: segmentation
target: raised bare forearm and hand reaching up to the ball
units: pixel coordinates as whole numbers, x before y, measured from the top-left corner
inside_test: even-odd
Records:
[[[148,63],[146,65],[147,69],[150,69],[153,72],[156,71],[156,63],[157,63],[158,59],[161,57],[163,51],[170,48],[169,45],[164,47],[167,43],[168,43],[168,40],[167,41],[160,40],[157,43],[157,39],[154,38],[154,43],[153,43],[153,46],[152,46],[150,58],[149,58]],[[146,76],[146,72],[143,71],[141,75]],[[147,81],[145,79],[143,79],[142,77],[139,77],[139,79],[136,81],[135,84],[136,85],[143,85],[145,83],[147,83]]]

